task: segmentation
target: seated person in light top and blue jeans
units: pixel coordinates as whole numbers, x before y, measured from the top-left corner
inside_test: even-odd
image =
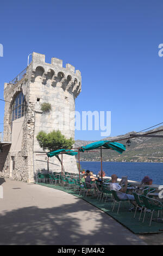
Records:
[[[112,174],[111,175],[111,183],[110,183],[110,189],[114,190],[117,192],[117,196],[120,200],[123,199],[129,199],[131,201],[131,204],[133,204],[134,206],[136,206],[136,202],[135,202],[135,198],[132,194],[126,194],[126,190],[127,190],[127,183],[128,181],[126,180],[126,184],[124,184],[124,187],[121,187],[118,183],[117,183],[117,175],[116,174]]]

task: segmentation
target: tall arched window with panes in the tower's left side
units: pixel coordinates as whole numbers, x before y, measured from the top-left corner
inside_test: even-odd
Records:
[[[14,103],[12,104],[12,121],[15,119],[23,117],[26,111],[26,101],[24,99],[24,95],[20,92],[16,98]]]

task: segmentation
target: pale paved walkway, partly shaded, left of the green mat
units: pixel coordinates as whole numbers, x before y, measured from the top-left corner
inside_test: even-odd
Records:
[[[5,179],[2,186],[0,245],[145,244],[110,216],[71,194],[11,179]]]

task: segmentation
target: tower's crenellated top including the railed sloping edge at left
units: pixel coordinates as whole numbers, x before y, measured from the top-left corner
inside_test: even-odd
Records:
[[[38,79],[44,85],[51,83],[52,87],[62,87],[73,94],[74,98],[82,90],[82,76],[79,70],[75,70],[75,67],[69,63],[66,64],[66,68],[63,68],[62,60],[54,57],[51,63],[46,63],[45,54],[36,52],[33,52],[29,66],[11,82],[4,84],[4,90],[17,88],[18,84],[24,84],[27,81],[34,83]]]

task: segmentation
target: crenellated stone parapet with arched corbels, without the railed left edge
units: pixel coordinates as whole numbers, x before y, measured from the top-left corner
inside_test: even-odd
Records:
[[[75,98],[81,92],[81,72],[75,70],[75,67],[69,63],[66,64],[66,68],[63,68],[61,59],[53,57],[51,63],[46,63],[44,54],[33,52],[30,69],[31,82],[35,82],[36,77],[40,77],[43,84],[51,80],[53,87],[60,86],[72,93]]]

